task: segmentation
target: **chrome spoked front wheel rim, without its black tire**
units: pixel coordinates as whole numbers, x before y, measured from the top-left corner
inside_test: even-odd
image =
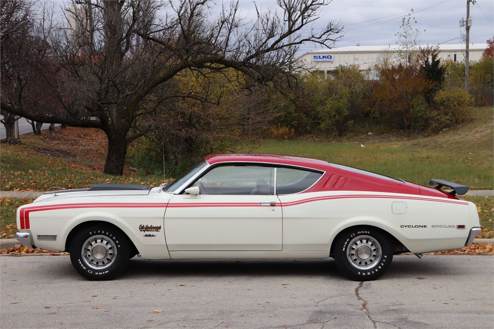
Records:
[[[91,269],[104,270],[117,258],[117,247],[109,237],[95,235],[83,244],[81,256]]]

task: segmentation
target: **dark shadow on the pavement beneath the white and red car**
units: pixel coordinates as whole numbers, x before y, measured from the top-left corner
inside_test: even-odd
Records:
[[[463,270],[445,266],[441,256],[394,256],[382,277],[411,279],[462,275]],[[120,279],[138,277],[218,277],[218,276],[311,276],[347,281],[333,258],[310,260],[144,260],[133,258]]]

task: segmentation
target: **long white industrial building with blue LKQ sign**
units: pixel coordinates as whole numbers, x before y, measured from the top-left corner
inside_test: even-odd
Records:
[[[427,45],[416,45],[405,50],[403,46],[351,46],[333,49],[321,49],[306,52],[297,60],[311,72],[321,72],[327,75],[338,66],[357,65],[361,71],[373,69],[376,64],[383,60],[390,60],[394,63],[406,60],[419,48],[426,48]],[[451,60],[453,62],[465,61],[465,44],[443,44],[439,45],[439,58],[441,60]],[[487,43],[472,43],[469,45],[470,62],[479,61],[482,53],[487,48]]]

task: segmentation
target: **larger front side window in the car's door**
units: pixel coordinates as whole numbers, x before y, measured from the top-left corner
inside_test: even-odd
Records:
[[[192,186],[199,186],[201,194],[273,195],[274,168],[256,165],[217,166]]]

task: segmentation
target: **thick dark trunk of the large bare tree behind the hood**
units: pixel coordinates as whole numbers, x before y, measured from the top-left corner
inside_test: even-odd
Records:
[[[108,154],[103,172],[110,175],[122,175],[127,154],[127,132],[107,131],[106,136],[108,137]]]

